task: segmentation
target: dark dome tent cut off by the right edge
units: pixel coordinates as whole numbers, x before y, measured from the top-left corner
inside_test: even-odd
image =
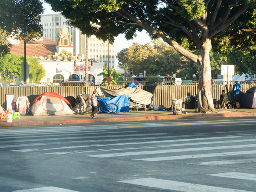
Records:
[[[256,108],[256,87],[246,91],[241,101],[242,108]]]

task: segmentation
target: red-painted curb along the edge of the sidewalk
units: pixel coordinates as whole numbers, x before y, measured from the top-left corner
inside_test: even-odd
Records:
[[[214,114],[182,114],[182,115],[162,115],[162,116],[137,116],[137,117],[118,117],[118,118],[99,118],[99,119],[75,119],[75,120],[56,120],[56,121],[30,121],[30,122],[0,122],[1,127],[21,127],[21,126],[40,126],[40,125],[71,125],[83,123],[102,123],[102,122],[136,122],[154,120],[176,120],[210,117],[235,117],[235,116],[256,116],[256,113],[214,113]]]

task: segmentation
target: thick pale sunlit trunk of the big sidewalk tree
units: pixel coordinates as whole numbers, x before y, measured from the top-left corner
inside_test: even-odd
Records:
[[[198,57],[199,83],[198,83],[198,108],[196,111],[206,112],[215,111],[212,93],[211,93],[211,65],[210,50],[212,48],[211,40],[206,39],[202,43],[200,55]]]

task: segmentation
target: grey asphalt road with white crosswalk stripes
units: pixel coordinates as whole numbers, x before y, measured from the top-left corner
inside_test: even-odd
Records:
[[[0,192],[256,192],[256,119],[0,129]]]

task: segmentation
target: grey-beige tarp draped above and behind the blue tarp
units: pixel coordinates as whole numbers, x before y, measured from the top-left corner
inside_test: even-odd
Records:
[[[130,98],[132,102],[142,104],[142,105],[149,105],[151,104],[152,100],[151,97],[153,96],[152,93],[149,93],[148,91],[139,89],[139,88],[121,88],[121,89],[105,89],[102,87],[99,87],[96,89],[99,96],[104,97],[116,97],[121,95],[126,95]]]

